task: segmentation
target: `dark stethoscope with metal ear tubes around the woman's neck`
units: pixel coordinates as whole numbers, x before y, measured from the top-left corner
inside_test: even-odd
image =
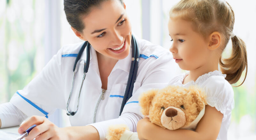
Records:
[[[80,59],[85,47],[86,47],[86,61],[84,59]],[[69,97],[68,97],[68,103],[67,103],[67,109],[66,109],[68,116],[69,115],[74,116],[76,114],[77,110],[78,110],[78,107],[79,107],[79,99],[80,99],[81,90],[82,90],[84,79],[85,79],[86,73],[88,72],[88,68],[89,68],[89,64],[90,64],[90,47],[91,47],[91,44],[88,41],[84,42],[84,44],[82,45],[82,47],[79,50],[79,52],[77,54],[77,57],[76,57],[76,61],[75,61],[74,68],[73,68],[74,74],[73,74],[73,80],[72,80],[72,85],[71,85],[71,91],[70,91],[70,94],[69,94]],[[132,63],[131,63],[129,77],[128,77],[126,89],[125,89],[125,92],[124,92],[124,98],[123,98],[123,101],[122,101],[122,105],[121,105],[119,115],[121,115],[126,102],[132,97],[132,90],[133,90],[134,82],[136,80],[136,75],[137,75],[137,71],[138,71],[139,48],[138,48],[138,44],[137,44],[136,40],[134,39],[133,35],[132,35],[132,47],[133,47],[132,48]],[[75,80],[76,72],[78,70],[80,62],[82,62],[82,61],[84,61],[84,76],[83,76],[83,81],[82,81],[80,91],[79,91],[79,95],[78,95],[76,111],[75,112],[69,112],[68,111],[68,105],[69,105],[69,101],[70,101],[70,98],[71,98],[71,95],[72,95],[72,90],[73,90],[73,86],[74,86],[74,80]]]

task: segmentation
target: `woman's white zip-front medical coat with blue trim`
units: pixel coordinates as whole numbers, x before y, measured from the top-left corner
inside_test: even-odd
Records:
[[[163,88],[175,74],[176,65],[172,54],[161,46],[136,38],[139,47],[139,67],[134,83],[133,95],[124,106],[123,113],[134,113],[142,117],[138,104],[140,93],[152,88]],[[24,89],[13,95],[11,103],[27,116],[48,116],[57,108],[66,110],[73,78],[76,55],[83,43],[63,46]],[[72,126],[84,126],[94,122],[119,117],[126,83],[131,65],[131,52],[118,60],[108,76],[108,89],[101,96],[101,80],[96,51],[91,47],[88,73],[85,77],[79,108],[74,116],[69,116]],[[86,49],[81,58],[86,59]],[[84,64],[76,73],[69,111],[75,111],[79,89],[83,78]],[[99,102],[99,105],[97,105]],[[98,107],[97,107],[98,106]],[[97,109],[96,109],[97,108]],[[123,114],[122,113],[122,114]],[[96,114],[96,115],[95,115]],[[94,117],[95,116],[95,117]],[[122,115],[121,115],[122,116]]]

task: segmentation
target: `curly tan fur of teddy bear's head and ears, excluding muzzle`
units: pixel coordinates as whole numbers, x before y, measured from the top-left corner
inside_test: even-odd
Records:
[[[183,88],[168,86],[160,90],[149,90],[140,96],[139,103],[143,115],[148,115],[149,120],[163,127],[161,116],[163,109],[169,106],[180,108],[186,116],[187,126],[194,121],[199,112],[204,108],[206,101],[204,93],[197,87]],[[184,109],[180,106],[183,105]],[[163,127],[164,128],[164,127]]]

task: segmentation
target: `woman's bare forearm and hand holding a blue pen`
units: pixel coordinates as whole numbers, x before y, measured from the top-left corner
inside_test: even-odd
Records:
[[[36,124],[25,140],[99,140],[100,135],[96,128],[91,125],[59,128],[45,117],[32,116],[20,125],[19,133],[24,132],[30,126]]]

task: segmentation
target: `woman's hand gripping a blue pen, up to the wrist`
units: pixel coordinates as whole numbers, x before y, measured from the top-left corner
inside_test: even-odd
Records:
[[[30,126],[36,124],[25,140],[68,140],[68,131],[65,128],[59,128],[45,117],[32,116],[20,125],[19,133],[26,131]]]

